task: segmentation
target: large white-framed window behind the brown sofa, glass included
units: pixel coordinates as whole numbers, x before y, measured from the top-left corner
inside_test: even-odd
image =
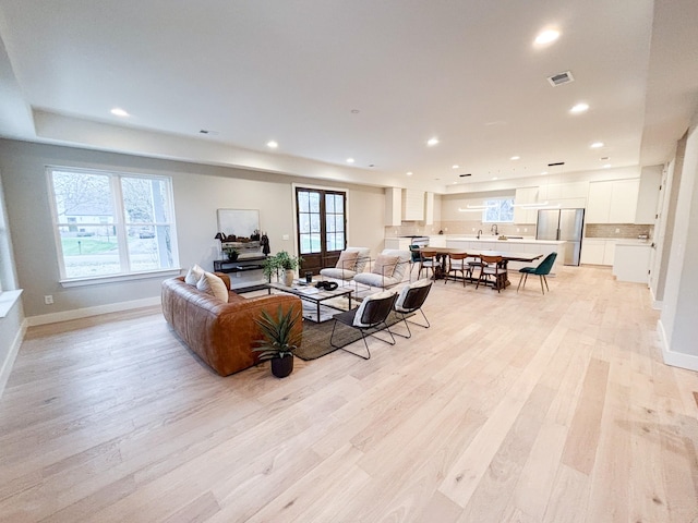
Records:
[[[49,168],[61,279],[172,269],[171,179]]]

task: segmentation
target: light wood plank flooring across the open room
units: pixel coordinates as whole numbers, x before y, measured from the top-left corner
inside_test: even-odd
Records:
[[[698,521],[698,375],[662,363],[648,290],[550,287],[440,281],[431,329],[281,380],[218,377],[158,307],[31,328],[0,521]]]

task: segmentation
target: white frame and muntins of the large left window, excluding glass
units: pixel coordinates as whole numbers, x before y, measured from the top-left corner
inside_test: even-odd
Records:
[[[69,172],[76,174],[94,174],[94,175],[103,175],[107,177],[109,181],[109,191],[111,196],[111,206],[113,212],[113,221],[108,223],[109,227],[113,227],[116,230],[116,240],[119,250],[118,259],[119,259],[119,272],[113,272],[109,275],[96,275],[96,276],[80,276],[80,277],[69,277],[65,269],[65,257],[63,254],[63,244],[60,234],[60,229],[65,227],[105,227],[106,223],[101,222],[99,219],[94,220],[94,222],[80,222],[80,223],[70,223],[67,221],[59,221],[59,212],[57,206],[56,191],[53,184],[53,173],[55,172]],[[163,222],[130,222],[127,219],[125,208],[123,202],[123,192],[122,192],[122,179],[144,179],[144,180],[156,180],[160,182],[165,182],[167,184],[167,205],[170,209],[170,216],[168,221]],[[51,227],[53,228],[53,243],[56,246],[57,262],[59,268],[60,280],[59,282],[63,287],[77,287],[85,284],[97,284],[109,281],[125,281],[132,279],[141,279],[148,278],[153,276],[164,276],[164,275],[179,275],[181,271],[181,267],[179,266],[179,248],[177,245],[177,224],[176,224],[176,212],[174,212],[174,195],[173,195],[173,184],[172,178],[163,174],[144,174],[139,172],[128,172],[128,171],[112,171],[112,170],[104,170],[104,169],[89,169],[89,168],[77,168],[77,167],[65,167],[65,166],[47,166],[46,167],[46,181],[48,185],[48,195],[49,195],[49,207],[51,214]],[[171,259],[172,266],[167,268],[157,268],[157,269],[146,269],[146,270],[131,270],[131,259],[129,253],[129,240],[128,240],[128,231],[129,228],[133,227],[157,227],[165,226],[170,228],[170,251],[171,251]],[[125,269],[125,270],[124,270]]]

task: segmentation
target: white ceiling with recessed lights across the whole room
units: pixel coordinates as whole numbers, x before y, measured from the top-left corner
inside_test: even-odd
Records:
[[[436,192],[654,165],[697,106],[697,20],[695,0],[0,0],[0,135]]]

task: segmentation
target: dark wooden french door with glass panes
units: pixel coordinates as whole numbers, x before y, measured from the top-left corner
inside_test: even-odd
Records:
[[[334,267],[347,246],[347,194],[341,191],[296,187],[298,252],[301,277]]]

